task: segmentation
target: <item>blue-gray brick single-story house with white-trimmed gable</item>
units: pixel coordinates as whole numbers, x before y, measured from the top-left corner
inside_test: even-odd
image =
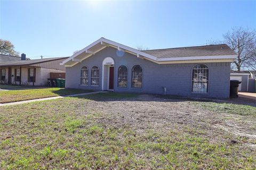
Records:
[[[228,98],[226,44],[137,50],[100,38],[62,62],[66,88]]]

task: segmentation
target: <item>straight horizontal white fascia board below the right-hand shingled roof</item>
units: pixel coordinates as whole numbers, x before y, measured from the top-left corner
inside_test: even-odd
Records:
[[[215,55],[215,56],[191,56],[191,57],[172,57],[159,58],[158,62],[164,61],[183,61],[183,60],[219,60],[219,59],[235,59],[236,55]]]

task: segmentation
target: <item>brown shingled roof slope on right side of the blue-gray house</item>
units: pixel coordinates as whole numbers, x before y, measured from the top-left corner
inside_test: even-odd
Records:
[[[236,53],[231,48],[229,48],[229,46],[226,44],[166,48],[166,49],[151,49],[151,50],[142,50],[142,52],[156,56],[158,58],[236,55]]]

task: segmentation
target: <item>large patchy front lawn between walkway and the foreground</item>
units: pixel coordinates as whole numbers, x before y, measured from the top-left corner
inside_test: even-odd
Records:
[[[4,106],[0,113],[0,169],[256,168],[256,140],[219,129],[226,113],[193,101],[108,93]],[[236,116],[243,129],[256,122]]]

